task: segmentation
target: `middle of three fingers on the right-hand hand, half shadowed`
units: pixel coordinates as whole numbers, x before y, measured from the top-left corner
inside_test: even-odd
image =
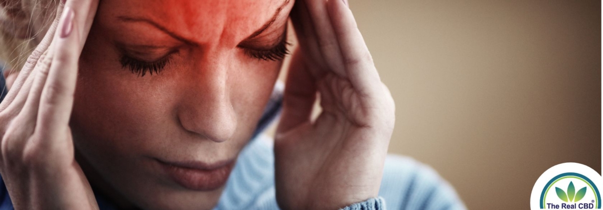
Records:
[[[301,0],[307,1],[306,6],[310,12],[310,18],[314,23],[314,31],[317,33],[318,46],[323,55],[327,66],[340,77],[346,77],[344,64],[339,52],[339,43],[336,40],[333,26],[329,19],[326,4],[324,0]]]

